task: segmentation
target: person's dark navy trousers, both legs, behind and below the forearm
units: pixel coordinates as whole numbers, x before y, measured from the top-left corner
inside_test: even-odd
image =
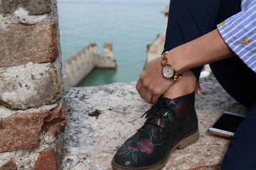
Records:
[[[211,32],[239,11],[241,0],[171,0],[164,52]],[[210,66],[223,89],[250,109],[230,141],[221,169],[256,169],[256,73],[237,56]],[[192,69],[197,79],[201,69]]]

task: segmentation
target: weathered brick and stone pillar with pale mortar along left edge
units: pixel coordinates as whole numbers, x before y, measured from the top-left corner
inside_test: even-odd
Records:
[[[0,169],[60,167],[59,37],[56,0],[0,0]]]

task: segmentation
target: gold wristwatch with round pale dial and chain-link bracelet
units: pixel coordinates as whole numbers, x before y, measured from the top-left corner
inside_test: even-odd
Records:
[[[161,65],[163,66],[162,69],[162,74],[164,76],[164,78],[168,79],[168,80],[172,80],[172,81],[177,81],[180,80],[180,78],[182,78],[182,73],[179,73],[178,76],[175,76],[175,69],[173,66],[171,66],[170,64],[167,64],[168,59],[167,59],[167,52],[164,52],[163,55],[161,56]]]

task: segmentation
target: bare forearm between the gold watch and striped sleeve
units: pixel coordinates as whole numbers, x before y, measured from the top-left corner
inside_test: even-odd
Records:
[[[182,72],[234,56],[217,29],[168,52],[168,64]]]

